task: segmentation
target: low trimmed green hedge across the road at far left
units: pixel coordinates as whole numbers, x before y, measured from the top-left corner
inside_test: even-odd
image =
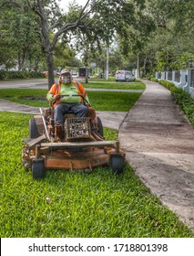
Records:
[[[41,72],[0,70],[0,80],[28,79],[28,78],[45,78],[45,75]]]

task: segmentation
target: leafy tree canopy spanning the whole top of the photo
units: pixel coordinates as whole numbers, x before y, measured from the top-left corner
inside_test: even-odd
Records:
[[[194,57],[193,16],[192,0],[72,1],[66,12],[56,0],[0,0],[0,65],[45,62],[49,87],[77,53],[104,69],[107,47],[111,69],[181,69]]]

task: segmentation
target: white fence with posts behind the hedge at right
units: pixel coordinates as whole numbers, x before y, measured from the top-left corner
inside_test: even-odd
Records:
[[[156,79],[171,81],[194,98],[194,69],[156,72]]]

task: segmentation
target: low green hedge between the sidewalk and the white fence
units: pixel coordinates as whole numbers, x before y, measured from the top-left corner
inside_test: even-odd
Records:
[[[183,91],[181,88],[177,88],[172,82],[167,80],[159,80],[159,84],[162,84],[171,92],[175,101],[179,104],[182,111],[187,115],[189,122],[194,127],[194,99],[192,99],[188,92]]]

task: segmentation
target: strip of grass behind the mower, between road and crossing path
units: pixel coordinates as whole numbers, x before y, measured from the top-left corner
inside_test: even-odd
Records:
[[[48,107],[46,90],[1,89],[0,98],[36,107]],[[97,111],[128,112],[141,93],[88,91],[89,101]]]

